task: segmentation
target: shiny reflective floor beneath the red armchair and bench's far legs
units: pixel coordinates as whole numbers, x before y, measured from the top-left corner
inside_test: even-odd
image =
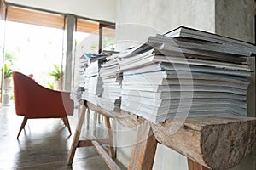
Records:
[[[16,139],[22,118],[15,115],[14,105],[0,108],[0,169],[108,169],[93,147],[79,148],[73,166],[67,167],[73,135],[69,135],[61,119],[28,120],[25,131]],[[77,115],[69,117],[73,133],[76,119]],[[89,130],[84,126],[82,138],[105,137],[102,124],[90,121]]]

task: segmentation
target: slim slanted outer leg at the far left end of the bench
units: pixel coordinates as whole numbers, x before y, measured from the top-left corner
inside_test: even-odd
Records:
[[[69,151],[69,155],[68,155],[68,159],[67,159],[67,165],[71,165],[73,163],[73,156],[74,156],[74,154],[76,152],[76,149],[79,145],[79,137],[80,137],[80,133],[81,133],[83,123],[84,123],[85,111],[86,111],[86,107],[85,107],[85,105],[83,105],[82,110],[80,112],[80,116],[79,116],[79,122],[78,122],[78,125],[76,127],[76,132],[75,132],[74,137],[73,137],[73,143],[72,143],[71,149]],[[87,109],[87,111],[89,111],[89,109]]]

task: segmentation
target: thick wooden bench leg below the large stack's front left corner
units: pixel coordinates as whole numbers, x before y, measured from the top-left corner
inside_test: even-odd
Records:
[[[137,127],[137,144],[131,151],[129,170],[148,170],[152,169],[157,141],[151,129],[150,122],[139,117]]]

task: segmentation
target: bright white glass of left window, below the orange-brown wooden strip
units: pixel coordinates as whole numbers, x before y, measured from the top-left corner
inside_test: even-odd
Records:
[[[49,71],[61,65],[63,31],[7,21],[5,36],[6,65],[27,75],[32,73],[38,83],[51,88],[55,80]]]

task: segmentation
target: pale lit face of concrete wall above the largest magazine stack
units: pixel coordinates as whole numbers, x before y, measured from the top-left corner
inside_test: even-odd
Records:
[[[148,35],[181,25],[214,32],[214,8],[214,0],[118,0],[117,48],[127,48]]]

